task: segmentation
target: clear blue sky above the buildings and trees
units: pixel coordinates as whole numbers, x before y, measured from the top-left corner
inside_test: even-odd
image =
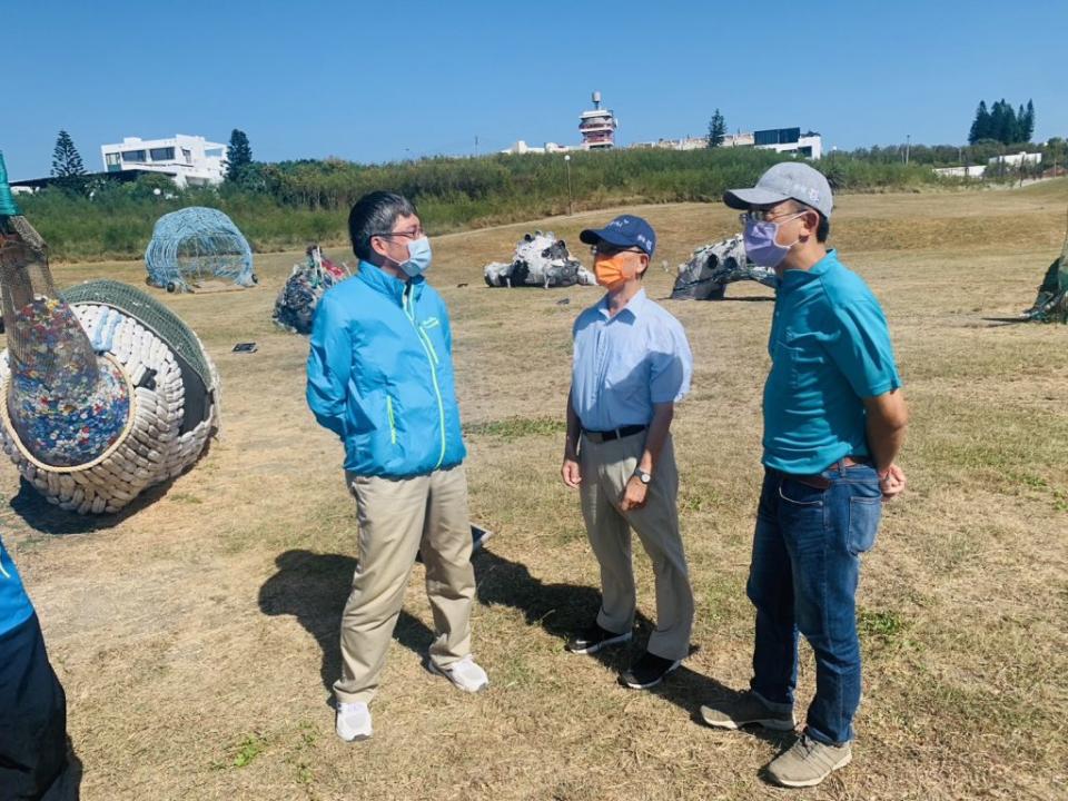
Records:
[[[383,161],[578,140],[599,89],[622,142],[800,126],[825,147],[961,144],[980,99],[1068,136],[1068,2],[0,0],[0,150],[47,175],[123,136],[258,160]]]

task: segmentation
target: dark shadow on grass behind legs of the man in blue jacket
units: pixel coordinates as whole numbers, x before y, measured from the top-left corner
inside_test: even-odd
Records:
[[[293,615],[315,637],[323,652],[323,686],[333,693],[342,675],[342,610],[352,591],[356,560],[294,550],[279,554],[275,564],[278,572],[259,590],[259,609],[266,615]],[[434,642],[434,633],[403,610],[393,636],[421,656]]]

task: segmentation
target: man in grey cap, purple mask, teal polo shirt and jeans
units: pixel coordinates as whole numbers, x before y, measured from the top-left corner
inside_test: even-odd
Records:
[[[815,696],[803,733],[768,774],[812,787],[852,758],[860,554],[874,545],[882,502],[904,488],[894,459],[908,414],[879,301],[827,248],[827,179],[805,164],[779,164],[723,201],[743,210],[749,258],[780,280],[746,587],[756,607],[753,678],[749,691],[700,713],[721,729],[793,730],[800,631],[815,655]]]

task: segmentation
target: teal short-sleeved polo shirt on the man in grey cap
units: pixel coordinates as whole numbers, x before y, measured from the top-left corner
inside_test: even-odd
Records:
[[[833,250],[811,269],[783,271],[768,352],[763,463],[810,475],[869,455],[862,398],[901,378],[879,301]]]

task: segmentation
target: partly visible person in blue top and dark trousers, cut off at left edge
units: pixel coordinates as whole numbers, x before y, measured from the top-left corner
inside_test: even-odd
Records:
[[[0,542],[0,799],[78,797],[67,761],[67,696],[41,624]]]

